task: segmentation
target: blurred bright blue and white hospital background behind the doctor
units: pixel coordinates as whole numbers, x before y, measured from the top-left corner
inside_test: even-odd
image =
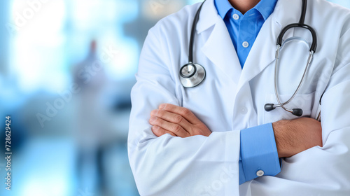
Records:
[[[141,47],[155,22],[199,1],[0,1],[0,124],[10,116],[13,153],[10,191],[0,158],[0,195],[139,195],[127,132]]]

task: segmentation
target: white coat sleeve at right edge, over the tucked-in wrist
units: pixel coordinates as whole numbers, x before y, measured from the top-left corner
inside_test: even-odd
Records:
[[[350,31],[339,40],[332,76],[321,99],[323,147],[315,146],[283,161],[276,179],[260,179],[266,193],[350,195]],[[284,182],[284,183],[282,183]],[[262,190],[262,189],[256,189]],[[253,194],[253,193],[252,193]]]

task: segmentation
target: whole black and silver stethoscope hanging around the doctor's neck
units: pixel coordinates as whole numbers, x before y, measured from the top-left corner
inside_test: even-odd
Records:
[[[197,13],[195,15],[195,19],[193,20],[193,26],[192,26],[192,31],[191,31],[191,36],[190,36],[190,47],[189,47],[189,55],[188,55],[188,64],[185,64],[184,66],[181,67],[180,69],[180,81],[183,87],[195,87],[197,85],[200,85],[200,83],[203,82],[205,76],[206,76],[206,71],[204,67],[200,64],[193,63],[193,43],[195,41],[195,29],[197,27],[197,22],[200,19],[200,10],[202,10],[202,6],[205,1],[203,1],[202,5],[200,8],[197,10]],[[302,13],[300,15],[300,20],[298,23],[290,24],[286,27],[284,27],[279,34],[277,38],[277,49],[276,49],[276,59],[275,59],[275,69],[274,69],[274,94],[276,95],[276,99],[278,104],[265,104],[265,111],[272,111],[278,107],[283,108],[285,111],[288,111],[292,113],[295,116],[302,116],[302,109],[287,109],[286,104],[289,104],[297,94],[297,92],[300,90],[300,87],[302,86],[302,83],[305,80],[305,76],[307,73],[307,70],[309,69],[309,66],[312,61],[312,57],[314,56],[314,53],[316,52],[317,48],[317,36],[316,36],[316,31],[310,27],[309,25],[304,24],[305,20],[305,15],[307,12],[307,0],[302,0]],[[312,43],[309,49],[309,57],[307,59],[307,64],[304,69],[304,73],[302,74],[302,78],[300,80],[299,85],[297,85],[297,89],[294,91],[292,97],[288,99],[288,101],[281,103],[281,99],[279,97],[279,92],[278,92],[278,85],[277,85],[277,70],[279,66],[279,55],[281,52],[281,47],[282,42],[283,42],[283,36],[286,34],[286,31],[292,28],[304,28],[310,31],[311,36],[312,36]],[[304,41],[306,42],[306,41]],[[309,44],[309,43],[307,43]]]

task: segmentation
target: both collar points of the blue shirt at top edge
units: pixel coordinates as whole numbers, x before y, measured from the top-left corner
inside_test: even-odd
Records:
[[[214,1],[216,9],[218,10],[218,14],[223,19],[225,18],[225,15],[228,13],[229,10],[236,10],[231,6],[231,3],[228,0]],[[272,12],[274,12],[274,7],[276,6],[276,3],[277,0],[260,0],[260,2],[253,9],[258,10],[259,13],[262,15],[262,18],[266,20],[267,18],[269,18],[269,15],[271,15]]]

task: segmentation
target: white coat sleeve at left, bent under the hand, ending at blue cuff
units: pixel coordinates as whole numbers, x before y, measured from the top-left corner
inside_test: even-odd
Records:
[[[153,28],[132,88],[130,165],[140,195],[239,195],[239,130],[209,137],[156,137],[148,123],[162,103],[179,105],[167,45]],[[179,84],[177,84],[179,85]]]

